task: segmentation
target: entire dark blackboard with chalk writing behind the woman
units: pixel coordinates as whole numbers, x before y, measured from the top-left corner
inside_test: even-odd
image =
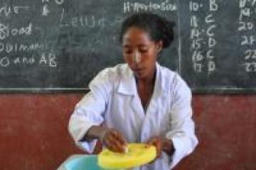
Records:
[[[256,2],[242,0],[2,0],[0,90],[86,90],[124,62],[119,27],[142,11],[176,23],[159,62],[195,93],[256,91]]]

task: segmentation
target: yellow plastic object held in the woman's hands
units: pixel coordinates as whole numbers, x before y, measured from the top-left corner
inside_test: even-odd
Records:
[[[156,158],[156,147],[132,143],[127,153],[112,152],[103,149],[98,155],[98,164],[103,169],[129,169],[149,163]]]

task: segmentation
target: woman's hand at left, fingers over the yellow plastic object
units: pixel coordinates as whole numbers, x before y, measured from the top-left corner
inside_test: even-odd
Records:
[[[107,149],[110,149],[113,152],[124,153],[125,148],[127,147],[127,142],[124,136],[113,128],[106,128],[105,132],[100,137],[100,140],[102,140]]]

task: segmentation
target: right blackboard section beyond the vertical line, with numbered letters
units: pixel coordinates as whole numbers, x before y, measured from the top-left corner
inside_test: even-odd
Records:
[[[180,1],[180,74],[195,91],[256,87],[256,1]]]

